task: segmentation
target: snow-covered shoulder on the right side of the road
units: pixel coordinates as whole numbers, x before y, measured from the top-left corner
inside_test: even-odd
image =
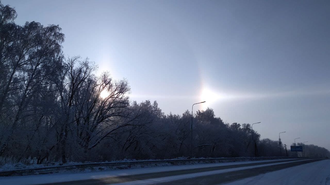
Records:
[[[330,160],[260,174],[226,185],[330,185]]]

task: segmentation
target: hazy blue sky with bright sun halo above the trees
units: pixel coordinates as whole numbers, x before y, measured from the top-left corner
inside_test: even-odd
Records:
[[[126,78],[169,114],[211,107],[262,138],[330,149],[329,1],[2,0],[59,24],[63,51]]]

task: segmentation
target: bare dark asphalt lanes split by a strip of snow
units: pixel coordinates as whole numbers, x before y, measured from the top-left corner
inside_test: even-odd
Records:
[[[69,182],[60,182],[60,183],[50,183],[50,184],[52,184],[52,185],[59,185],[59,184],[61,184],[61,185],[106,185],[107,184],[108,185],[108,184],[131,182],[131,181],[137,181],[137,180],[146,180],[146,179],[168,177],[168,176],[174,176],[174,175],[189,174],[189,173],[207,172],[207,171],[223,170],[223,169],[238,168],[238,167],[247,167],[247,166],[254,166],[254,165],[289,162],[289,161],[296,161],[296,162],[253,168],[253,169],[248,169],[248,170],[239,170],[239,171],[234,171],[234,172],[225,172],[225,173],[219,173],[216,175],[207,175],[207,176],[188,178],[188,179],[176,180],[176,181],[171,181],[171,182],[167,182],[167,183],[159,183],[159,184],[161,184],[161,185],[164,185],[164,184],[174,184],[174,185],[180,184],[181,185],[181,184],[183,184],[184,185],[184,184],[227,183],[227,182],[231,182],[234,180],[247,178],[250,176],[255,176],[255,175],[258,175],[261,173],[272,172],[272,171],[281,170],[284,168],[289,168],[289,167],[293,167],[293,166],[297,166],[297,165],[315,162],[317,160],[300,161],[300,160],[295,159],[295,160],[285,160],[285,161],[249,163],[249,164],[240,164],[240,165],[196,168],[196,169],[188,169],[188,170],[169,171],[169,172],[155,172],[155,173],[126,175],[126,176],[117,176],[117,177],[107,177],[107,178],[102,178],[102,179],[89,179],[89,180],[69,181]],[[50,184],[44,184],[44,185],[50,185]]]

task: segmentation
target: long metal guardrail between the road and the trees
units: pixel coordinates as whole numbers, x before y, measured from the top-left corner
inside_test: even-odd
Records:
[[[41,167],[41,168],[31,168],[31,169],[19,169],[11,171],[0,171],[0,176],[10,176],[10,175],[26,175],[26,174],[46,174],[52,172],[58,172],[60,170],[73,170],[73,169],[86,169],[93,167],[116,167],[121,165],[127,165],[127,168],[133,165],[140,164],[157,164],[160,163],[170,163],[170,164],[180,164],[187,162],[235,162],[235,161],[257,161],[257,160],[271,160],[271,159],[306,159],[307,157],[238,157],[238,158],[210,158],[210,159],[170,159],[170,160],[149,160],[149,161],[122,161],[122,162],[106,162],[106,163],[85,163],[76,165],[62,165],[53,167]]]

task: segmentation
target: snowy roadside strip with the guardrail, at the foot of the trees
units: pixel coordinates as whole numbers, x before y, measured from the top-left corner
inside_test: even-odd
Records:
[[[0,168],[0,176],[8,175],[26,175],[26,174],[46,174],[55,172],[91,172],[116,169],[145,168],[154,166],[172,166],[172,165],[191,165],[191,164],[208,164],[238,161],[256,161],[256,160],[275,160],[275,159],[292,159],[286,157],[257,157],[257,158],[193,158],[186,159],[184,157],[169,160],[119,160],[112,162],[83,162],[83,163],[50,163],[47,165],[24,165],[18,163],[15,165],[4,165]]]

